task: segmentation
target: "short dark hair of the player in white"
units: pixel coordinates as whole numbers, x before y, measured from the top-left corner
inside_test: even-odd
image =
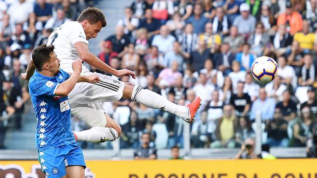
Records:
[[[99,21],[102,24],[102,27],[106,27],[106,17],[102,10],[96,7],[88,7],[86,8],[77,18],[76,21],[82,22],[84,20],[88,20],[91,24],[96,24]]]

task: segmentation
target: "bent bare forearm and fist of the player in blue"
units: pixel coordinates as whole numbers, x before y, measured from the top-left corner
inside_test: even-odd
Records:
[[[81,73],[82,70],[82,60],[78,58],[72,63],[72,68],[74,73],[63,83],[61,83],[55,92],[55,95],[57,96],[67,96],[72,89],[74,89],[78,79],[79,79],[79,74]]]

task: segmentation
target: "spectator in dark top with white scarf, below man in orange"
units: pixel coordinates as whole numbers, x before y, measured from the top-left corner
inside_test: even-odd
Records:
[[[271,36],[271,43],[275,48],[277,56],[285,54],[287,48],[292,45],[293,37],[286,32],[286,26],[281,24],[278,26],[275,36]]]

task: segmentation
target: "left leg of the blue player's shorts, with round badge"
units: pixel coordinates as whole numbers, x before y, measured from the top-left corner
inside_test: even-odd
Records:
[[[65,155],[67,154],[62,146],[48,150],[39,150],[39,162],[42,171],[48,178],[61,178],[66,175]]]

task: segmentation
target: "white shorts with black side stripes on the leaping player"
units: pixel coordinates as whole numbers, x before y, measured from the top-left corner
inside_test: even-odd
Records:
[[[77,83],[68,94],[71,114],[86,122],[90,127],[106,127],[106,111],[103,103],[118,101],[123,95],[124,83],[100,73],[84,72],[80,75],[97,74],[100,82]]]

